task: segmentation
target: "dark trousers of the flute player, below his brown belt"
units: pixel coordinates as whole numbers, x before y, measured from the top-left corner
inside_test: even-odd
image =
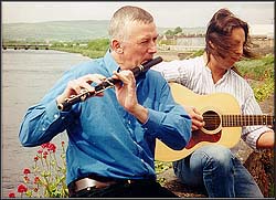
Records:
[[[76,192],[71,198],[179,198],[156,181],[136,181],[115,183],[106,188],[88,188]]]

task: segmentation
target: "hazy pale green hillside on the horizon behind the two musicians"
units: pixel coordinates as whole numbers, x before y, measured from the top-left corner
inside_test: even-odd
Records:
[[[51,21],[2,24],[4,41],[87,41],[108,38],[108,20]],[[160,34],[174,28],[158,28]],[[204,32],[204,28],[183,28],[184,32]]]

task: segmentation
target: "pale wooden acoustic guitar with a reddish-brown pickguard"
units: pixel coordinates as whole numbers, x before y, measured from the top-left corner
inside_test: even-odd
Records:
[[[170,87],[177,103],[180,105],[192,105],[199,109],[205,126],[192,131],[190,141],[182,150],[173,150],[157,139],[156,160],[179,160],[189,156],[195,149],[212,143],[231,148],[238,143],[242,126],[274,125],[274,116],[241,115],[238,103],[231,94],[199,95],[178,83],[170,83]]]

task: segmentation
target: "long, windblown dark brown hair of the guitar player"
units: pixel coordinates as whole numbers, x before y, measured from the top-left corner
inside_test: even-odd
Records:
[[[227,9],[220,9],[214,13],[213,18],[209,22],[205,34],[205,52],[208,54],[208,62],[210,61],[210,54],[214,57],[225,59],[226,56],[235,56],[233,51],[233,42],[231,41],[231,33],[233,29],[242,28],[245,33],[245,43],[243,45],[243,57],[255,57],[252,52],[252,42],[248,34],[248,24],[243,20],[235,17]],[[215,46],[215,49],[211,45]]]

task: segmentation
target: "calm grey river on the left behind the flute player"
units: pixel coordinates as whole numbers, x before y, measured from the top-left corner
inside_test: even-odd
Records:
[[[72,65],[89,60],[81,54],[51,50],[2,50],[1,63],[1,197],[17,193],[23,169],[31,168],[39,147],[22,147],[19,128],[31,105],[44,94]],[[53,143],[61,148],[67,141],[60,134]],[[59,152],[59,149],[57,149]]]

